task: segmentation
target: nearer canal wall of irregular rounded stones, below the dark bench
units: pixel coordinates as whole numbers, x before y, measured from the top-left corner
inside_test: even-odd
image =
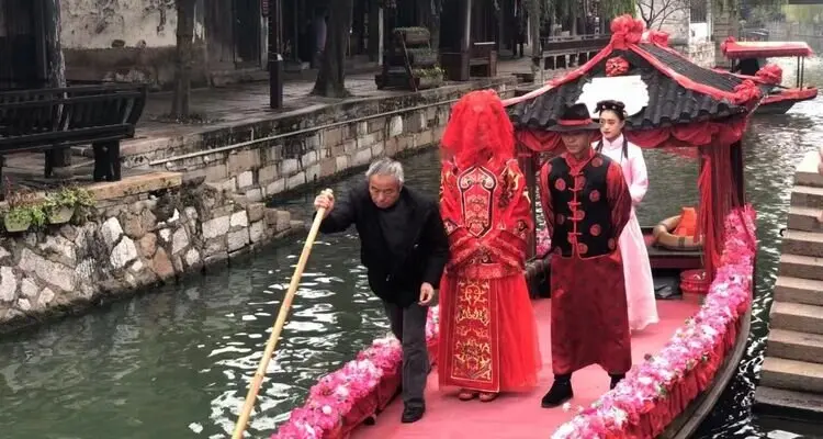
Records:
[[[202,179],[201,179],[202,180]],[[0,238],[0,331],[105,302],[304,229],[289,212],[177,172],[90,188],[90,221]]]

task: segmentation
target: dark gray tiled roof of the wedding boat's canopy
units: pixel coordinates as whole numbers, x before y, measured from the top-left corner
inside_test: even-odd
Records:
[[[733,75],[701,68],[678,54],[652,44],[641,44],[640,47],[678,74],[720,91],[733,92],[734,88],[742,82]],[[736,105],[724,99],[686,89],[634,52],[615,50],[577,80],[563,83],[532,100],[512,105],[509,114],[515,126],[531,128],[553,126],[556,123],[554,117],[561,114],[566,105],[577,102],[583,92],[583,86],[591,78],[605,77],[606,60],[618,55],[631,65],[631,70],[627,75],[640,75],[649,87],[649,104],[639,114],[627,120],[627,125],[631,130],[653,130],[704,120],[722,120],[748,111],[744,105]]]

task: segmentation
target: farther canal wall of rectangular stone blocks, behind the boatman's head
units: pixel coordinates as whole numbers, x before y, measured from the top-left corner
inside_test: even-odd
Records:
[[[472,89],[514,95],[516,78],[354,100],[301,114],[250,121],[158,144],[124,146],[125,164],[185,172],[259,201],[345,173],[376,157],[437,144],[451,106]]]

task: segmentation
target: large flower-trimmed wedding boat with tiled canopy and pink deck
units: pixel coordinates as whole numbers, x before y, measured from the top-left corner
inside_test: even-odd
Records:
[[[573,378],[575,397],[570,409],[540,407],[540,398],[552,381],[548,300],[534,301],[543,357],[538,389],[523,394],[503,394],[489,403],[462,402],[452,391],[438,389],[435,356],[426,395],[427,412],[414,424],[401,424],[402,402],[392,398],[401,382],[401,347],[390,336],[375,341],[340,371],[322,379],[309,391],[305,405],[292,412],[291,419],[272,439],[533,438],[549,436],[552,431],[554,439],[686,439],[695,432],[736,371],[748,335],[756,250],[754,213],[744,204],[740,134],[736,138],[730,134],[743,132],[747,114],[757,106],[762,95],[751,82],[744,83],[730,74],[688,63],[662,44],[659,35],[653,41],[641,38],[636,34],[642,27],[640,23],[628,15],[618,18],[612,22],[609,45],[579,70],[537,92],[508,100],[506,104],[515,121],[517,138],[523,146],[521,168],[531,200],[537,200],[537,166],[545,154],[556,154],[560,145],[554,138],[557,136],[552,137],[544,130],[555,123],[554,112],[562,108],[556,102],[584,99],[582,82],[593,77],[602,78],[607,64],[629,64],[624,72],[635,71],[646,78],[644,83],[650,97],[674,95],[678,102],[697,102],[698,105],[684,109],[665,99],[649,99],[640,109],[630,110],[627,136],[646,147],[683,146],[675,131],[684,133],[694,128],[696,132],[690,132],[694,138],[699,139],[701,133],[709,136],[697,145],[717,142],[724,146],[699,149],[703,159],[731,164],[729,169],[718,169],[700,179],[702,209],[714,212],[707,216],[708,224],[701,224],[703,230],[712,230],[706,235],[706,249],[714,250],[702,256],[712,277],[704,303],[658,301],[661,323],[632,337],[635,364],[627,378],[609,391],[608,378],[598,367],[576,372]],[[616,83],[609,86],[600,91],[618,90]],[[644,94],[638,88],[627,92]],[[723,104],[719,106],[721,100]],[[632,104],[628,103],[627,108],[632,109]],[[678,123],[673,127],[669,121]],[[641,126],[643,131],[633,131]],[[724,127],[729,131],[724,132]],[[656,132],[650,135],[652,131]],[[657,143],[650,143],[650,138]],[[722,155],[729,157],[721,161]],[[659,250],[655,255],[654,247],[650,250],[653,260],[657,258],[658,263],[669,268],[683,270],[686,260],[689,267],[700,261],[699,254],[672,255],[668,254],[672,250]],[[722,257],[718,258],[719,255]],[[534,259],[527,267],[526,275],[530,278],[544,271],[545,261]],[[436,308],[429,315],[427,339],[430,352],[437,352]]]

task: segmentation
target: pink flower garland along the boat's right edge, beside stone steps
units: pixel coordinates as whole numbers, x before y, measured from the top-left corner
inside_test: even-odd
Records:
[[[718,360],[717,352],[726,351],[730,346],[723,345],[728,344],[730,328],[752,303],[754,218],[751,206],[726,217],[721,266],[700,311],[675,331],[656,356],[647,356],[644,362],[635,364],[615,390],[588,408],[580,407],[580,413],[562,425],[552,439],[638,437],[641,418],[658,404],[666,404],[667,396],[685,385],[687,374],[703,372],[702,387],[709,384],[717,372],[707,365],[710,358]]]

